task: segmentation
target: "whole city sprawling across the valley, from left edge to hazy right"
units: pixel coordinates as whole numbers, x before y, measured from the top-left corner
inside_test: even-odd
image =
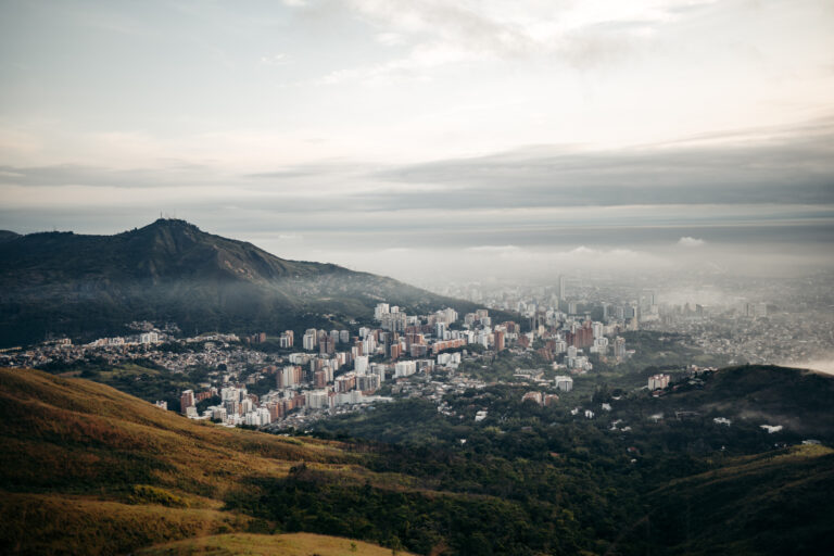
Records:
[[[583,375],[593,375],[594,365],[616,368],[629,362],[635,350],[621,336],[627,332],[681,334],[691,348],[728,364],[824,356],[831,345],[831,324],[801,316],[811,311],[810,299],[829,292],[808,288],[804,292],[808,299],[794,292],[784,300],[794,311],[743,300],[681,306],[658,300],[649,289],[607,289],[560,276],[552,288],[484,290],[470,285],[443,292],[515,312],[518,321],[493,323],[489,308],[465,315],[448,307],[408,315],[388,303],[378,303],[372,321],[365,325],[353,320],[350,329],[306,329],[298,339],[292,330],[275,336],[213,332],[184,338],[176,325],[156,328],[140,321],[128,325],[132,334],[83,345],[63,338],[25,350],[3,350],[0,365],[58,364],[72,369],[74,364],[94,359],[110,366],[150,364],[175,375],[200,369],[197,388],[177,392],[178,400],[153,401],[189,418],[229,427],[306,430],[321,419],[413,397],[428,400],[452,417],[450,397],[488,384],[533,386],[536,390],[525,394],[525,400],[556,403],[560,393],[572,390],[574,378],[581,381]],[[490,368],[500,355],[518,365],[511,376],[471,372]],[[715,368],[698,358],[686,363],[690,371]],[[659,389],[666,388],[669,376],[658,377]],[[654,384],[654,377],[649,378],[650,390]],[[484,417],[485,412],[477,420]]]

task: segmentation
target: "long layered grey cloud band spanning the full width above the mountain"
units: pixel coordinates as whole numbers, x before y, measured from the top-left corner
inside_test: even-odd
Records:
[[[0,165],[0,187],[7,190],[5,201],[16,206],[46,205],[58,199],[36,188],[76,188],[72,195],[67,189],[72,199],[80,199],[87,188],[87,194],[97,200],[102,193],[89,188],[109,190],[108,199],[117,199],[118,190],[164,188],[165,195],[176,193],[184,202],[217,202],[225,195],[236,206],[269,214],[315,211],[327,213],[330,222],[338,219],[330,213],[339,218],[349,212],[366,215],[352,228],[421,223],[428,215],[441,214],[446,229],[478,222],[507,226],[525,222],[548,228],[639,219],[668,225],[682,215],[685,219],[680,222],[704,224],[726,223],[726,218],[735,218],[736,225],[762,219],[831,222],[834,121],[760,135],[738,131],[610,151],[532,146],[408,165],[327,159],[253,173],[187,160],[135,168]],[[194,199],[197,188],[216,194]],[[136,194],[125,191],[124,197],[134,202]],[[313,198],[315,204],[309,202]],[[673,238],[715,239],[702,233],[680,230]],[[490,244],[516,240],[495,241]]]

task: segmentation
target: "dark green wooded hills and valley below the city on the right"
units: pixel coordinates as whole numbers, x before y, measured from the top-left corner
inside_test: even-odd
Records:
[[[558,507],[571,516],[561,523],[571,527],[557,536],[581,539],[574,549],[706,554],[732,541],[741,553],[791,554],[791,546],[821,553],[832,529],[814,514],[818,492],[806,494],[829,484],[826,466],[834,455],[817,445],[789,446],[809,435],[834,441],[829,409],[834,380],[796,369],[743,366],[679,380],[659,397],[597,390],[590,399],[563,394],[552,407],[521,403],[528,390],[494,386],[448,396],[456,413],[452,417],[418,400],[377,406],[320,421],[317,435],[369,439],[369,450],[378,453],[368,464],[375,471],[409,475],[444,492],[500,497],[516,504],[528,523],[535,522],[529,514]],[[611,410],[603,410],[603,403]],[[577,406],[593,408],[597,416],[573,415]],[[489,409],[489,416],[476,424],[479,409]],[[730,418],[732,425],[716,422],[716,417]],[[761,424],[785,429],[772,434]],[[769,463],[768,472],[750,464],[758,460]],[[708,478],[716,476],[726,480],[711,484]],[[756,494],[741,495],[754,484]],[[692,500],[702,497],[708,504],[693,506]],[[711,519],[712,511],[738,513],[743,517],[735,521],[744,529],[734,533],[726,520]],[[801,527],[795,516],[803,516]],[[780,519],[794,525],[778,529],[779,543],[753,541],[759,520]],[[690,523],[690,532],[682,533],[679,522]],[[419,543],[406,539],[417,552]],[[554,545],[533,547],[559,553]]]

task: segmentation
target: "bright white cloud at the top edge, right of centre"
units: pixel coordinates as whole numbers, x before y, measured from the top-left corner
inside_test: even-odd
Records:
[[[334,71],[319,83],[426,79],[429,70],[448,64],[554,55],[574,66],[597,65],[652,40],[657,26],[697,16],[712,3],[350,0],[354,12],[379,29],[377,41],[410,50],[384,63]]]

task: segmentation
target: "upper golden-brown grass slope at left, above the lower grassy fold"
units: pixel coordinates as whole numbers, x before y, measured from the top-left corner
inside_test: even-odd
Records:
[[[215,498],[247,477],[285,477],[298,462],[355,460],[338,443],[194,422],[109,387],[33,370],[0,369],[0,418],[5,485],[159,483]]]

